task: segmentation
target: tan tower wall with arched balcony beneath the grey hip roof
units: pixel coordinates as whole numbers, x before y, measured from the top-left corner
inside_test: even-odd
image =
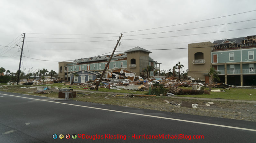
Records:
[[[148,65],[148,52],[133,51],[127,52],[127,69],[136,73],[136,75],[142,74],[142,68],[147,68]],[[129,68],[131,59],[136,60],[136,68]]]

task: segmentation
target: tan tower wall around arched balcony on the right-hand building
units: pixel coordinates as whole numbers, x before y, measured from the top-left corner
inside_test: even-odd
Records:
[[[213,43],[201,42],[188,44],[188,76],[193,77],[195,80],[205,81],[204,74],[207,74],[211,68],[211,52]],[[197,52],[204,53],[204,64],[194,64],[194,54]]]

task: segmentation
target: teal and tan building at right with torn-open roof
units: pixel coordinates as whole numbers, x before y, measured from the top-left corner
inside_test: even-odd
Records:
[[[188,76],[209,82],[213,66],[221,82],[256,85],[256,36],[188,44]]]

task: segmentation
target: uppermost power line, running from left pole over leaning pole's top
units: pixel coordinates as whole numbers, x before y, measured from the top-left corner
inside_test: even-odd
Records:
[[[181,24],[175,24],[175,25],[170,25],[170,26],[163,26],[163,27],[157,27],[157,28],[148,28],[148,29],[142,29],[142,30],[134,30],[134,31],[126,31],[122,33],[129,33],[129,32],[137,32],[137,31],[145,31],[145,30],[152,30],[152,29],[158,29],[158,28],[166,28],[166,27],[172,27],[172,26],[178,26],[178,25],[184,25],[184,24],[189,24],[189,23],[195,23],[195,22],[200,22],[200,21],[206,21],[206,20],[213,20],[213,19],[218,19],[218,18],[223,18],[223,17],[228,17],[228,16],[233,16],[233,15],[238,15],[238,14],[243,14],[243,13],[248,13],[248,12],[254,12],[256,10],[252,11],[247,11],[247,12],[241,12],[241,13],[235,13],[235,14],[230,14],[226,16],[220,16],[220,17],[215,17],[215,18],[210,18],[210,19],[205,19],[205,20],[198,20],[198,21],[192,21],[192,22],[186,22],[186,23],[181,23]],[[84,34],[52,34],[52,33],[27,33],[27,34],[40,34],[40,35],[93,35],[93,34],[119,34],[120,32],[109,32],[109,33],[84,33]]]

